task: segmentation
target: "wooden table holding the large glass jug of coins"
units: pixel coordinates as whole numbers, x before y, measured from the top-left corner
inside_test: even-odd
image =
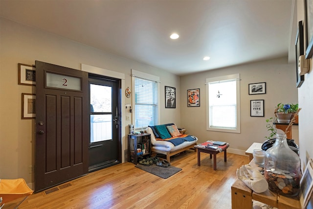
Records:
[[[250,162],[250,165],[257,166],[253,161]],[[231,208],[252,209],[252,200],[268,204],[278,209],[301,209],[300,201],[296,198],[274,194],[269,190],[263,193],[256,193],[249,189],[245,183],[237,179],[231,186]]]

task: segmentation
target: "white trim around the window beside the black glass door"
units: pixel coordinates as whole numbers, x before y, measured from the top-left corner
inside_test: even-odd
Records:
[[[132,69],[132,90],[134,92],[135,90],[135,77],[145,79],[145,80],[151,80],[155,81],[157,83],[157,124],[159,124],[160,121],[160,77],[156,75],[151,75],[145,72],[141,72],[138,70]],[[135,124],[135,96],[132,96],[132,124]],[[140,131],[141,127],[134,127],[134,131]]]

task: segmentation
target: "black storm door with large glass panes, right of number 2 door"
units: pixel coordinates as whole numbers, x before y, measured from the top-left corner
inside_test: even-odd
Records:
[[[121,163],[120,81],[89,75],[89,172]]]

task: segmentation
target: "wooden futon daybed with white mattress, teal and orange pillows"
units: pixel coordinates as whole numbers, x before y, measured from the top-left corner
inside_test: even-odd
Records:
[[[146,132],[151,134],[152,155],[166,155],[168,162],[171,156],[194,148],[198,141],[195,136],[180,134],[174,123],[149,126]]]

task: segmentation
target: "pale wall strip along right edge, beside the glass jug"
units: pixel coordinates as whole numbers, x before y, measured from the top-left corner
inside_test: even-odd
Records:
[[[303,21],[304,18],[304,1],[297,0],[297,16],[298,21]],[[306,29],[306,28],[304,28]],[[306,39],[306,37],[305,37]],[[305,41],[306,43],[306,41]],[[305,46],[306,48],[306,46]],[[313,158],[313,75],[312,75],[313,60],[310,59],[310,70],[304,75],[304,82],[298,89],[299,107],[302,110],[299,113],[299,146],[300,159],[302,167],[305,167],[310,158]],[[303,169],[304,171],[304,169]]]

